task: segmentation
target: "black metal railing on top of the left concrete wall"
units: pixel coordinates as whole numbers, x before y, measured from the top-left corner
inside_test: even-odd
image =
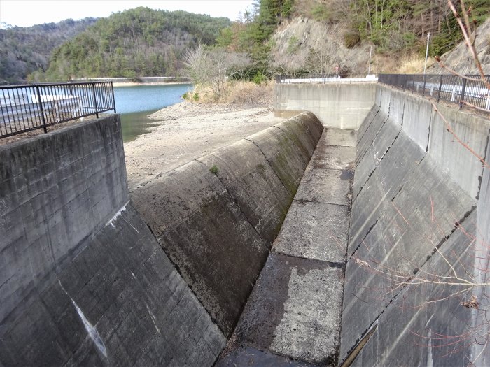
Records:
[[[0,138],[114,110],[112,82],[0,87]]]

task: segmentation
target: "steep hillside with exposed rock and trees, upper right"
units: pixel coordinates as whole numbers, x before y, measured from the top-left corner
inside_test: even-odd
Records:
[[[477,24],[490,15],[488,0],[465,6]],[[293,73],[397,72],[407,60],[423,59],[428,32],[430,56],[463,38],[447,0],[296,0],[277,24],[268,41],[270,63]]]

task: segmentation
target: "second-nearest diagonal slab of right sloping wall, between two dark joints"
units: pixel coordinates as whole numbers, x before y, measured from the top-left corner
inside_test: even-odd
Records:
[[[400,291],[389,276],[369,271],[356,260],[367,261],[373,269],[396,271],[408,279],[434,247],[451,234],[454,223],[461,222],[475,206],[457,185],[451,185],[448,176],[437,173],[436,167],[426,157],[411,172],[348,262],[342,319],[344,345],[353,345]],[[345,353],[342,347],[341,356]]]

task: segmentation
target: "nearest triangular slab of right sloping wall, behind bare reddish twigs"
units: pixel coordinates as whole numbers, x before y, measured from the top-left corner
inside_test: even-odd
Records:
[[[443,277],[455,273],[471,280],[467,269],[472,268],[475,235],[476,213],[473,212],[440,247],[441,254],[430,257],[393,305],[384,310],[377,330],[352,366],[395,366],[400,361],[406,366],[467,366],[468,361],[475,359],[477,354],[471,354],[466,346],[474,343],[479,331],[468,330],[472,311],[461,305],[470,301],[472,291],[430,283],[417,285],[425,280],[444,280]],[[485,354],[481,358],[484,357]]]

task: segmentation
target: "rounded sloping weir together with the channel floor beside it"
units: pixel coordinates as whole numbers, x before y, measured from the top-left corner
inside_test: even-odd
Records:
[[[218,365],[241,364],[251,350],[335,363],[355,145],[353,131],[323,130],[302,113],[133,192],[155,238],[231,337]]]

